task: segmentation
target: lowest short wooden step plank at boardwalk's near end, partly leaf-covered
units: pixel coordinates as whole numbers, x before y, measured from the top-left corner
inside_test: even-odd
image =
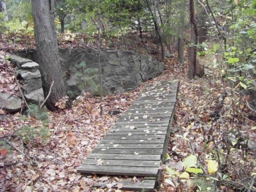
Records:
[[[120,181],[118,183],[122,183],[121,190],[129,191],[155,191],[154,188],[156,187],[156,180],[144,180],[136,183],[132,183],[131,181]],[[106,188],[106,183],[98,182],[93,186]],[[112,188],[116,189],[117,187],[113,186]]]

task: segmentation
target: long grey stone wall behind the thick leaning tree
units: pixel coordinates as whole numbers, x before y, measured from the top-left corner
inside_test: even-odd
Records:
[[[99,95],[98,51],[94,48],[61,48],[63,77],[71,98],[80,92],[90,91]],[[39,62],[36,50],[23,50],[17,55]],[[161,74],[164,67],[151,56],[131,51],[102,50],[103,94],[134,90],[141,82]]]

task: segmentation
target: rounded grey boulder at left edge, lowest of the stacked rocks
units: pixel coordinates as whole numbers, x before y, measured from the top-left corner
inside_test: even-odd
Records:
[[[19,112],[22,107],[21,98],[17,98],[7,93],[0,93],[0,108],[6,112]]]

